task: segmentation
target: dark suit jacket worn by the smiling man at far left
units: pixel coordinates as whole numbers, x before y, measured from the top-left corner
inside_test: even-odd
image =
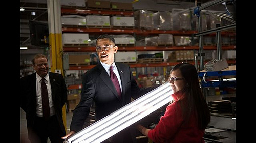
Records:
[[[59,122],[59,126],[66,133],[62,107],[67,101],[67,87],[61,74],[49,72],[51,82],[52,99]],[[29,137],[36,117],[36,73],[20,78],[20,107],[26,112],[27,128]]]

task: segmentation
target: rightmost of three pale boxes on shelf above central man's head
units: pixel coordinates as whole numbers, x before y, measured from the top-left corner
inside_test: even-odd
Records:
[[[112,16],[110,23],[112,26],[134,26],[134,17]]]

